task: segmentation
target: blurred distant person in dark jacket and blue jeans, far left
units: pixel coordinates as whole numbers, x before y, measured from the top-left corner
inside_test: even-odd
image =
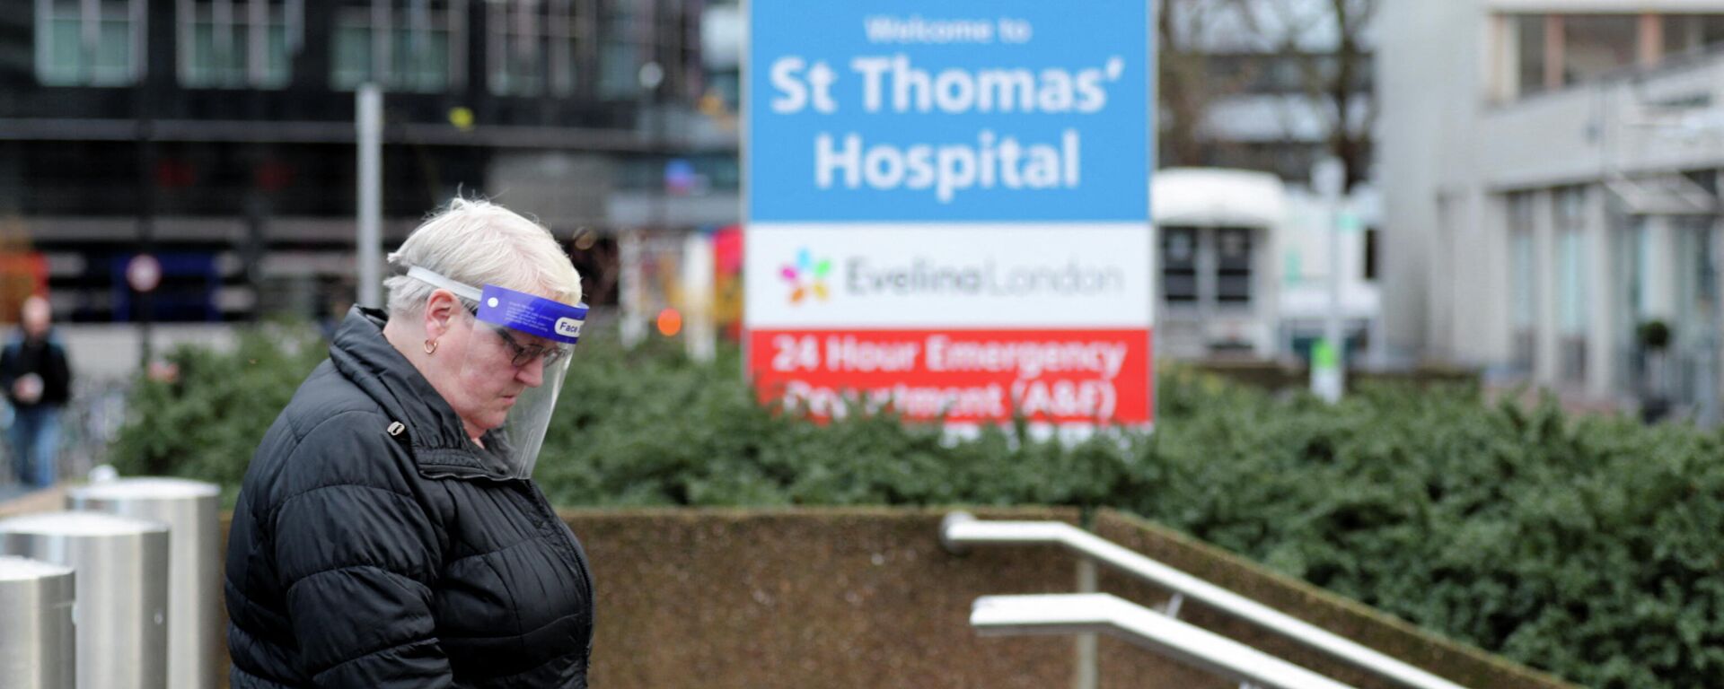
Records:
[[[0,388],[12,403],[12,472],[24,486],[55,481],[60,450],[60,410],[72,396],[72,369],[53,336],[48,300],[33,295],[19,310],[19,331],[0,351]]]

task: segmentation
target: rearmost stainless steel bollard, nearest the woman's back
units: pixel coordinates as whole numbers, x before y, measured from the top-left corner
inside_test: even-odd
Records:
[[[116,479],[66,493],[72,510],[167,524],[167,686],[221,682],[221,487],[186,479]]]

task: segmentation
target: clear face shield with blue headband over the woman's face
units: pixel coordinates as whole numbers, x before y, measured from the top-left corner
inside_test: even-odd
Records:
[[[510,475],[531,477],[586,305],[495,284],[478,289],[421,267],[407,276],[455,293],[467,307],[472,332],[448,403],[483,432],[488,451],[509,462]]]

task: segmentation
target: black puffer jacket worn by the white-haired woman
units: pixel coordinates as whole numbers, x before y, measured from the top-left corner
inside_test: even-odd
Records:
[[[383,319],[348,313],[247,470],[233,687],[584,687],[586,553],[538,486],[467,439]]]

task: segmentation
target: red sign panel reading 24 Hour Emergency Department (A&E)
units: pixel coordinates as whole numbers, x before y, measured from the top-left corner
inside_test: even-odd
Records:
[[[815,419],[846,396],[905,419],[1153,422],[1148,329],[750,331],[760,401]]]

